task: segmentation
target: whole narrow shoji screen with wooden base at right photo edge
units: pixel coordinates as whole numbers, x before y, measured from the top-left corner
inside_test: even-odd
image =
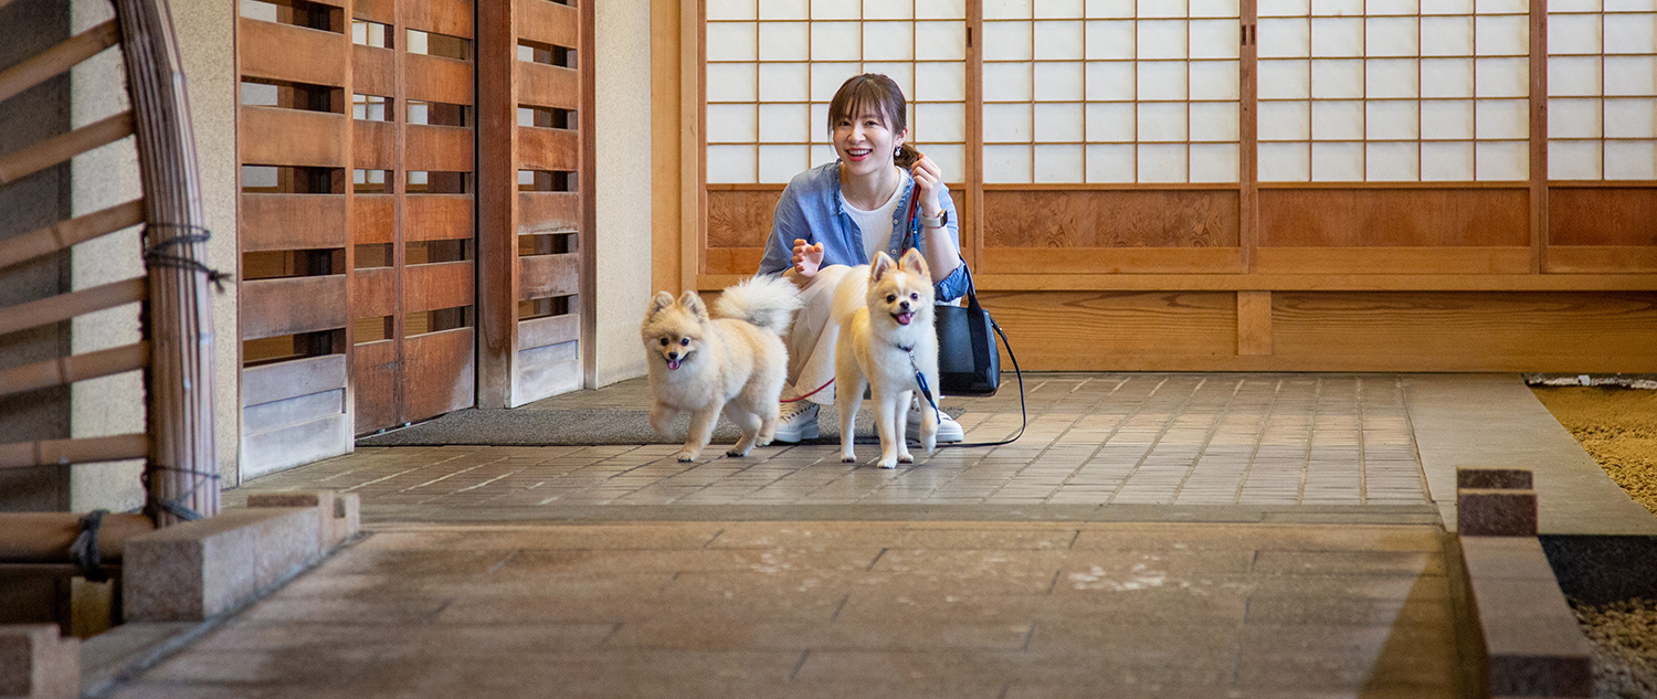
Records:
[[[1548,2],[1548,270],[1657,267],[1657,3]]]

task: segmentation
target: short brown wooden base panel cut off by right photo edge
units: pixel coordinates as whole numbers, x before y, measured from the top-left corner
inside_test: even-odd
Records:
[[[1657,245],[1657,187],[1549,189],[1548,243]]]

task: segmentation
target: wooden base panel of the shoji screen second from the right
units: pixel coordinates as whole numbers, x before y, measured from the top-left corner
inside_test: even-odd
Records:
[[[1261,189],[1261,247],[1529,247],[1529,190]]]

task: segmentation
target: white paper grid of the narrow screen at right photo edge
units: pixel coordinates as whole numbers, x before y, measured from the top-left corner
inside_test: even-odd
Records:
[[[1604,3],[1616,5],[1616,3]],[[1630,5],[1630,3],[1622,3]],[[1584,179],[1657,179],[1657,10],[1602,7],[1601,2],[1554,2],[1548,10],[1548,177],[1556,181]],[[1592,27],[1591,45],[1582,28]],[[1639,36],[1627,28],[1645,28]],[[1554,28],[1563,30],[1559,35]],[[1564,33],[1571,33],[1566,38]],[[1607,36],[1622,33],[1630,45],[1609,46]],[[1558,36],[1558,40],[1556,40]],[[1619,41],[1621,43],[1621,41]],[[1607,61],[1607,56],[1614,61]],[[1609,63],[1609,65],[1607,65]],[[1644,63],[1645,75],[1639,63]],[[1581,66],[1591,65],[1594,76],[1581,80]],[[1616,80],[1612,80],[1616,78]],[[1630,89],[1635,84],[1645,89]],[[1581,84],[1592,84],[1584,91]],[[1616,94],[1607,94],[1607,84]],[[1592,114],[1584,118],[1584,111]],[[1612,123],[1611,113],[1619,111],[1629,119]],[[1591,129],[1584,131],[1584,124]]]

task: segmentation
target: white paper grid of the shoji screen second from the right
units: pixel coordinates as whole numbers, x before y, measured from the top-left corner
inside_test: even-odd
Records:
[[[1524,181],[1529,179],[1529,131],[1528,131],[1528,104],[1529,104],[1529,68],[1528,41],[1516,41],[1518,46],[1508,51],[1485,50],[1481,48],[1480,27],[1486,22],[1500,22],[1501,18],[1510,18],[1510,22],[1518,22],[1524,28],[1528,36],[1528,12],[1526,3],[1508,2],[1508,7],[1501,7],[1500,2],[1481,0],[1478,7],[1473,2],[1465,2],[1461,12],[1437,12],[1437,13],[1372,13],[1370,8],[1384,10],[1387,7],[1413,5],[1399,2],[1349,2],[1355,12],[1341,10],[1319,10],[1307,8],[1306,3],[1299,3],[1299,12],[1286,12],[1289,2],[1283,0],[1263,0],[1261,2],[1261,23],[1268,25],[1268,31],[1261,31],[1263,48],[1259,58],[1261,88],[1266,88],[1266,75],[1279,65],[1299,65],[1304,66],[1306,75],[1306,96],[1304,98],[1271,98],[1261,96],[1261,119],[1259,119],[1259,179],[1263,182],[1306,182],[1306,181],[1403,181],[1403,182],[1427,182],[1427,181]],[[1331,3],[1332,5],[1332,3]],[[1327,7],[1327,5],[1324,5]],[[1485,10],[1490,7],[1490,10]],[[1445,5],[1438,5],[1443,10]],[[1418,8],[1417,8],[1418,10]],[[1375,20],[1394,20],[1394,18],[1413,18],[1413,40],[1415,51],[1410,53],[1380,53],[1375,55],[1370,46],[1370,28]],[[1269,30],[1286,28],[1287,22],[1301,20],[1304,27],[1304,48],[1301,55],[1276,55],[1283,50],[1283,45],[1273,46],[1268,51],[1276,36]],[[1347,55],[1319,55],[1319,35],[1317,20],[1349,20],[1355,22],[1359,45],[1357,53]],[[1425,31],[1423,23],[1443,22],[1443,20],[1465,20],[1466,23],[1466,50],[1465,51],[1433,51],[1423,50]],[[1276,23],[1278,27],[1271,27]],[[1327,25],[1326,25],[1327,27]],[[1448,27],[1448,22],[1447,22]],[[1486,38],[1493,35],[1486,33]],[[1495,38],[1493,38],[1495,40]],[[1268,58],[1269,56],[1269,58]],[[1413,96],[1370,96],[1370,71],[1382,61],[1413,61]],[[1496,61],[1511,61],[1523,70],[1518,75],[1506,75],[1513,84],[1523,84],[1524,88],[1511,94],[1490,93],[1488,83],[1481,84],[1480,75],[1485,66],[1491,66],[1491,78],[1500,78],[1500,66]],[[1334,66],[1337,63],[1357,63],[1357,94],[1347,94],[1341,98],[1319,96],[1319,63],[1326,66]],[[1461,78],[1466,80],[1466,88],[1461,94],[1447,96],[1430,96],[1425,94],[1428,89],[1428,73],[1425,61],[1463,61],[1466,66]],[[1442,63],[1448,66],[1450,63]],[[1263,93],[1266,89],[1261,89]],[[1359,137],[1321,137],[1319,129],[1319,103],[1337,104],[1352,103],[1357,104],[1357,124],[1355,134]],[[1304,121],[1301,131],[1304,137],[1284,137],[1274,134],[1274,128],[1281,128],[1281,123],[1274,123],[1273,113],[1279,111],[1284,104],[1304,104]],[[1370,113],[1377,104],[1413,104],[1413,137],[1392,136],[1377,137],[1374,134],[1375,126],[1372,124]],[[1428,111],[1433,106],[1442,106],[1447,113],[1455,108],[1465,108],[1463,116],[1463,137],[1433,134],[1433,124],[1428,121]],[[1495,124],[1501,118],[1500,109],[1510,109],[1508,134],[1500,134],[1500,126]],[[1326,108],[1327,109],[1327,108]],[[1511,119],[1513,114],[1523,114],[1523,121]],[[1486,123],[1490,123],[1486,126]],[[1496,131],[1496,133],[1491,133]],[[1440,136],[1440,137],[1435,137]],[[1387,144],[1415,144],[1410,159],[1399,161],[1397,156],[1389,159]],[[1455,146],[1460,146],[1457,149]],[[1327,157],[1321,159],[1324,152],[1339,152],[1337,149],[1354,149],[1347,157]],[[1460,151],[1460,162],[1455,161]],[[1292,161],[1299,159],[1299,166]],[[1413,162],[1412,162],[1413,161]],[[1432,162],[1432,166],[1428,166]],[[1345,166],[1344,169],[1341,166]],[[1301,169],[1296,169],[1301,167]]]

